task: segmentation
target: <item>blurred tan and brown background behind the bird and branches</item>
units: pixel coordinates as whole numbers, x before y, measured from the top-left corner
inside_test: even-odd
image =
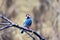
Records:
[[[0,14],[20,26],[27,13],[34,31],[46,40],[60,40],[60,0],[0,0]],[[0,40],[32,40],[20,32],[14,27],[5,29],[0,31]]]

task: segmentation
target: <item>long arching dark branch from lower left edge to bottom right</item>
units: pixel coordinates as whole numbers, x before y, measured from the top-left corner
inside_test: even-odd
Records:
[[[34,32],[34,31],[32,31],[32,30],[28,30],[28,29],[26,29],[26,28],[20,27],[19,25],[7,25],[7,26],[5,26],[5,27],[3,27],[3,28],[0,28],[0,30],[7,29],[7,28],[9,28],[9,27],[11,27],[11,26],[14,26],[14,27],[16,27],[16,28],[18,28],[18,29],[20,29],[20,30],[23,29],[23,30],[26,30],[26,31],[28,31],[28,32],[33,32],[39,39],[45,40],[45,39],[43,39],[38,33]],[[29,34],[28,34],[28,35],[29,35]]]

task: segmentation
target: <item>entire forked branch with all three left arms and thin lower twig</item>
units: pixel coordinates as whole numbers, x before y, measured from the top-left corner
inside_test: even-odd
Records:
[[[6,24],[7,24],[6,26],[0,28],[0,31],[1,31],[1,30],[4,30],[4,29],[7,29],[7,28],[10,28],[10,27],[16,27],[16,28],[18,28],[18,29],[20,29],[20,30],[22,30],[22,29],[25,30],[26,33],[27,33],[27,32],[30,32],[30,33],[35,34],[35,35],[39,38],[39,40],[45,40],[45,39],[42,38],[37,32],[35,32],[35,31],[33,31],[33,30],[26,29],[26,28],[24,28],[24,27],[21,27],[21,26],[15,24],[15,23],[13,23],[12,21],[10,21],[10,20],[9,20],[8,18],[6,18],[5,16],[2,16],[1,14],[0,14],[0,18],[8,21],[8,23],[0,23],[0,25],[6,25]],[[30,35],[29,33],[27,33],[27,34],[28,34],[33,40],[35,40],[35,38],[32,37],[32,35]]]

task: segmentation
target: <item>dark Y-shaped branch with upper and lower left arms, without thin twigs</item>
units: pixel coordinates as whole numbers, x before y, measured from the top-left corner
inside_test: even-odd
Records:
[[[7,25],[7,26],[5,26],[5,27],[0,28],[0,30],[4,30],[4,29],[7,29],[7,28],[13,26],[13,27],[16,27],[16,28],[18,28],[18,29],[20,29],[20,30],[23,29],[23,30],[26,30],[27,32],[31,32],[31,33],[33,32],[33,34],[35,34],[40,40],[45,40],[45,39],[43,39],[38,33],[36,33],[35,31],[33,31],[33,30],[28,30],[28,29],[23,28],[23,27],[15,24],[15,23],[12,23],[9,19],[7,19],[6,17],[4,17],[4,16],[2,16],[2,15],[0,15],[0,17],[10,23],[9,25]],[[28,33],[27,33],[27,34],[28,34]],[[30,34],[28,34],[28,35],[30,35]],[[31,35],[30,35],[30,36],[31,36]]]

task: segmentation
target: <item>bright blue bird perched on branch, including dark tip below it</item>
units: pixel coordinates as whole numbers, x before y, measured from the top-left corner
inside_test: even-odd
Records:
[[[32,19],[29,14],[26,14],[26,18],[23,22],[23,26],[27,29],[30,29],[31,25],[32,25]],[[25,30],[22,30],[21,33],[23,33],[24,31]]]

